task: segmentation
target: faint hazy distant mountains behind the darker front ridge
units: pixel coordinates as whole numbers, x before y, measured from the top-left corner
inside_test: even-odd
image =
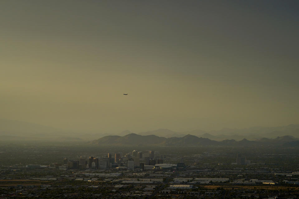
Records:
[[[0,140],[1,141],[92,141],[105,136],[125,136],[133,132],[125,130],[120,133],[110,133],[101,131],[72,131],[62,130],[59,128],[43,126],[35,123],[23,121],[0,119]],[[194,135],[196,137],[208,138],[213,141],[226,141],[233,143],[241,141],[244,138],[249,141],[256,141],[262,138],[274,139],[282,136],[299,136],[299,124],[290,124],[280,127],[251,127],[243,129],[223,128],[217,131],[193,130],[185,132],[175,132],[166,128],[160,128],[153,131],[136,133],[140,136],[156,135],[164,138],[172,138],[169,143],[177,140],[177,138],[186,135]],[[176,138],[173,138],[176,137]],[[227,141],[229,140],[229,141]],[[265,140],[265,139],[264,139]]]

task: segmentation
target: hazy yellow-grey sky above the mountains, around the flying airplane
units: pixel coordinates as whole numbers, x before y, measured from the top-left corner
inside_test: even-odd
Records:
[[[0,118],[99,132],[299,123],[298,9],[0,1]]]

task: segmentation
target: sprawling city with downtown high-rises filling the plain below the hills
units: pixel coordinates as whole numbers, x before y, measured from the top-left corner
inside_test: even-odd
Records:
[[[89,150],[80,151],[85,156],[64,152],[51,161],[48,151],[36,150],[28,154],[28,164],[0,166],[0,198],[299,197],[299,155],[293,151],[251,155],[254,150],[241,148],[237,155],[235,148],[222,147],[158,150],[161,154],[128,148],[130,153],[106,149],[92,156]],[[41,158],[48,165],[39,165]]]

